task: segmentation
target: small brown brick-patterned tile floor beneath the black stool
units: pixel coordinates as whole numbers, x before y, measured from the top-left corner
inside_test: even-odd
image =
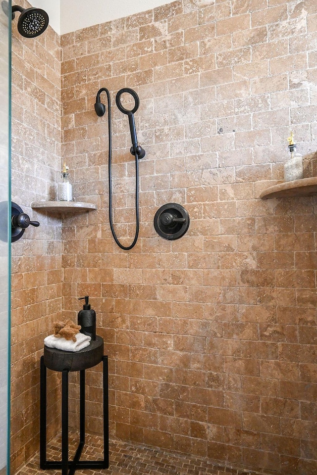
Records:
[[[60,437],[50,441],[47,449],[49,460],[60,460]],[[77,437],[69,437],[69,454],[75,453],[77,448]],[[82,460],[102,458],[103,439],[96,435],[86,435],[85,447],[82,453]],[[165,452],[156,448],[149,448],[139,445],[110,441],[110,467],[108,470],[78,470],[76,474],[94,475],[103,473],[105,475],[229,475],[243,474],[254,475],[255,472],[241,469],[230,469],[209,463],[207,459],[183,456]],[[60,471],[42,471],[39,468],[40,456],[37,453],[16,475],[60,475]],[[263,475],[263,474],[262,474]]]

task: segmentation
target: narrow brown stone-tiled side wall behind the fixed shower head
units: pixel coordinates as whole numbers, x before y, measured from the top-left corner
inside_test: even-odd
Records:
[[[23,8],[30,6],[19,2]],[[43,339],[60,318],[61,220],[31,209],[56,197],[60,170],[60,41],[52,28],[32,40],[12,21],[12,201],[39,228],[12,244],[11,469],[39,448],[40,372]],[[59,414],[56,380],[49,379],[52,422]]]

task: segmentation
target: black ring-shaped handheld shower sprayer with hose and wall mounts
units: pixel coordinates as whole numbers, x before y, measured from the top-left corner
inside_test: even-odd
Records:
[[[112,131],[111,131],[111,98],[110,98],[110,93],[106,88],[101,88],[96,96],[96,103],[95,103],[95,111],[96,114],[99,117],[102,117],[106,113],[106,106],[101,102],[100,95],[102,92],[105,92],[107,95],[107,105],[108,105],[108,143],[109,143],[109,153],[108,153],[108,177],[109,177],[109,223],[110,223],[110,229],[112,236],[121,249],[128,251],[129,249],[132,249],[132,247],[135,246],[138,236],[139,236],[139,227],[140,227],[140,214],[139,214],[139,159],[144,158],[145,156],[145,150],[138,145],[138,140],[137,140],[137,133],[135,130],[135,122],[134,122],[134,112],[136,112],[139,108],[140,105],[140,100],[135,91],[133,89],[129,88],[123,88],[120,89],[120,91],[117,93],[115,101],[118,106],[118,109],[123,112],[124,114],[128,115],[129,118],[129,125],[130,125],[130,133],[131,133],[131,141],[132,141],[132,147],[130,148],[130,152],[132,155],[135,156],[135,214],[136,214],[136,226],[135,226],[135,236],[133,239],[133,242],[130,246],[123,246],[121,242],[118,240],[116,237],[114,227],[113,227],[113,221],[112,221],[112,171],[111,171],[111,166],[112,166]],[[133,109],[128,110],[125,109],[122,104],[121,104],[121,94],[123,93],[129,93],[132,95],[132,97],[135,100],[135,105]]]

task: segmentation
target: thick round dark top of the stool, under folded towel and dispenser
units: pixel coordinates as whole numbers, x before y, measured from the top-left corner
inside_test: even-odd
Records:
[[[53,371],[82,371],[98,365],[104,356],[104,340],[96,336],[80,351],[63,351],[44,345],[44,364]]]

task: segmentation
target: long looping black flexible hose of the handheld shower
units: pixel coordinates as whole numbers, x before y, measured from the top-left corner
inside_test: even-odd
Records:
[[[119,239],[116,237],[113,221],[112,221],[112,128],[111,128],[111,99],[109,91],[105,88],[108,102],[108,138],[109,138],[109,155],[108,155],[108,177],[109,177],[109,223],[112,236],[115,242],[118,244],[121,249],[128,251],[135,246],[140,228],[140,215],[139,215],[139,159],[137,153],[135,154],[135,214],[136,214],[136,227],[135,227],[135,236],[133,242],[130,246],[124,246],[121,244]]]

